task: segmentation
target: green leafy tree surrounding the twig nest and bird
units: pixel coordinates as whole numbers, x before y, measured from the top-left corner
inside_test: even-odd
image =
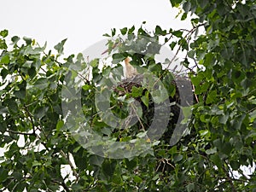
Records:
[[[8,31],[0,32],[2,190],[255,190],[255,173],[241,166],[253,166],[256,153],[256,4],[171,3],[182,6],[181,20],[192,15],[193,28],[113,29],[105,34],[111,67],[82,54],[63,59],[66,39],[52,54],[32,38],[7,45]],[[161,39],[186,53],[186,76],[155,61]],[[127,56],[143,75],[122,78]],[[194,89],[187,104],[177,91],[183,84]],[[62,165],[73,177],[61,176]]]

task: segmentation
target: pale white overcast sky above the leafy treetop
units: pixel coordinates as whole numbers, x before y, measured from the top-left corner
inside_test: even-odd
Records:
[[[64,54],[77,54],[103,39],[111,28],[141,26],[152,30],[189,28],[189,21],[175,20],[177,9],[169,0],[0,0],[0,30],[11,36],[35,38],[48,49],[67,38]]]

